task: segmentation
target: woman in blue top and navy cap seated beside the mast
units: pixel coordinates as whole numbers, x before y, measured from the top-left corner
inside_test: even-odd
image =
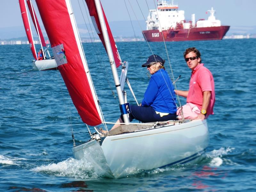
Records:
[[[142,67],[152,75],[140,106],[131,105],[129,119],[143,123],[176,120],[176,96],[172,81],[164,68],[164,60],[158,55],[148,57]],[[123,116],[116,123],[123,123]],[[115,124],[112,129],[120,126]],[[112,130],[111,129],[111,130]]]

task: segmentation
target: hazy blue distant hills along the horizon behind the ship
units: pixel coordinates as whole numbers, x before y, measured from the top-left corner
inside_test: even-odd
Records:
[[[94,27],[91,24],[86,24],[87,27],[94,32],[95,37],[98,36],[95,33]],[[90,37],[85,24],[78,24],[78,30],[81,37]],[[112,34],[114,37],[134,37],[134,32],[137,38],[141,38],[141,30],[146,29],[146,23],[143,20],[138,21],[112,21],[109,22]],[[134,30],[134,31],[133,31]],[[36,34],[34,32],[34,34]],[[44,36],[46,36],[43,30]],[[256,34],[256,26],[231,26],[227,35],[253,35]],[[0,28],[0,40],[26,40],[26,33],[23,26]],[[35,39],[36,40],[36,39]]]

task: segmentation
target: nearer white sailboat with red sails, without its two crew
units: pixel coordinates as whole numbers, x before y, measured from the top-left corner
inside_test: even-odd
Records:
[[[113,178],[124,177],[133,171],[186,164],[196,160],[208,146],[206,120],[183,119],[147,124],[129,122],[126,110],[128,104],[125,103],[122,83],[117,73],[121,60],[115,43],[111,41],[113,37],[105,13],[100,0],[85,2],[108,53],[124,124],[104,134],[97,129],[92,133],[88,128],[91,139],[80,145],[76,145],[72,134],[75,158],[91,159]],[[86,125],[103,124],[106,127],[108,122],[101,112],[70,1],[36,0],[36,3],[58,69],[82,121]],[[122,76],[125,74],[123,70]]]

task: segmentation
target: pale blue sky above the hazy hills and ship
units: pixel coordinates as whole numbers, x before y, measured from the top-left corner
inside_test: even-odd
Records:
[[[83,0],[71,0],[73,11],[75,13],[77,24],[83,24],[84,20],[81,18],[81,12],[78,5],[83,6]],[[143,12],[145,18],[148,16],[148,7],[146,0],[125,0],[132,20],[144,20],[140,12]],[[130,4],[132,4],[136,17],[134,16]],[[138,8],[138,4],[140,9]],[[169,1],[172,2],[171,0]],[[174,0],[174,4],[179,5],[179,10],[185,11],[185,18],[191,20],[191,14],[196,14],[196,20],[207,19],[206,11],[213,6],[216,10],[216,19],[221,20],[222,25],[230,26],[256,26],[255,6],[256,0]],[[35,4],[35,0],[32,0]],[[154,0],[147,0],[149,9],[155,9]],[[155,0],[157,4],[157,1]],[[124,0],[101,0],[103,9],[107,15],[108,22],[130,20],[127,10],[125,8]],[[77,15],[77,16],[76,16]],[[20,14],[18,0],[0,0],[0,28],[22,26],[22,19]]]

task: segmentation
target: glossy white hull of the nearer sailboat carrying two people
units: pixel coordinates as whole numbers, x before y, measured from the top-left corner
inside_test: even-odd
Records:
[[[185,164],[199,157],[208,146],[207,121],[194,120],[177,125],[107,136],[102,141],[89,141],[73,148],[76,159],[98,148],[97,156],[115,178],[134,170],[151,170],[172,164]],[[93,146],[93,147],[92,147]],[[97,160],[96,160],[97,161]],[[99,165],[99,163],[97,164]]]

